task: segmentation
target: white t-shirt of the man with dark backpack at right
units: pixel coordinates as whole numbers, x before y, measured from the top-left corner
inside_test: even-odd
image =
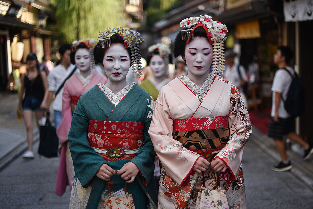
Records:
[[[292,75],[295,74],[291,67],[286,67],[286,69],[290,71]],[[291,82],[292,77],[286,70],[279,69],[276,71],[272,84],[273,91],[272,112],[271,112],[272,117],[275,116],[275,92],[281,93],[283,99],[286,100]],[[278,106],[278,118],[290,118],[290,117],[291,115],[286,111],[283,100],[280,99],[280,103]]]

